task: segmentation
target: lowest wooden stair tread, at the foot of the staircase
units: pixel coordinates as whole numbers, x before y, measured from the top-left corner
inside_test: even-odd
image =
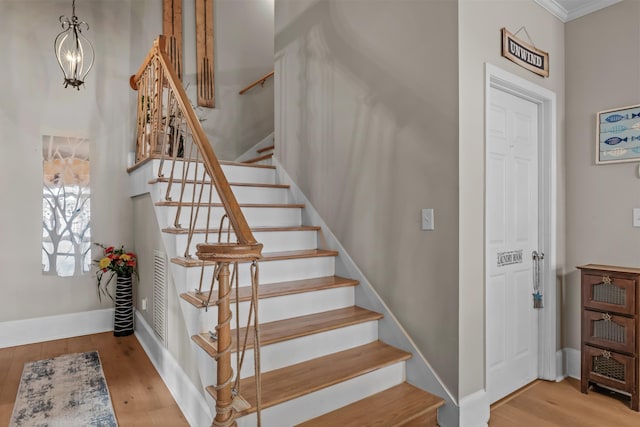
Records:
[[[408,383],[402,383],[380,393],[313,418],[296,427],[399,427],[418,418],[426,420],[435,414],[444,400]],[[435,426],[435,416],[433,425]]]

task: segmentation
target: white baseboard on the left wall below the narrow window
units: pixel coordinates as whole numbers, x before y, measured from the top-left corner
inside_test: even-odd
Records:
[[[113,331],[113,308],[0,322],[0,348]]]

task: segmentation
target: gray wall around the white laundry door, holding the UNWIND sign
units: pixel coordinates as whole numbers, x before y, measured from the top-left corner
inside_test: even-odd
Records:
[[[460,396],[484,388],[484,64],[489,62],[556,93],[556,254],[564,265],[564,25],[533,0],[460,0]],[[525,26],[549,52],[550,76],[541,78],[501,57],[500,29]],[[526,35],[518,35],[526,40]]]

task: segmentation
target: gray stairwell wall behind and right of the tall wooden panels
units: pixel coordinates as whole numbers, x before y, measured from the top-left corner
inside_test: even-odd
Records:
[[[195,100],[195,2],[182,5],[184,82]],[[238,95],[273,70],[273,0],[216,0],[214,18],[216,106],[197,114],[218,158],[234,160],[273,132],[273,79]]]

